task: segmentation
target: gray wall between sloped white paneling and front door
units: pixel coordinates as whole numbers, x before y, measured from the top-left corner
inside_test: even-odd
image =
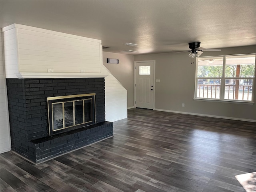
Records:
[[[127,90],[127,108],[134,106],[134,56],[103,52],[103,65]],[[119,59],[119,64],[107,63],[107,58]]]

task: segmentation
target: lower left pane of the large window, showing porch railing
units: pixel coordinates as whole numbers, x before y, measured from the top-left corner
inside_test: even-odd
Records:
[[[198,79],[197,98],[220,98],[220,79]]]

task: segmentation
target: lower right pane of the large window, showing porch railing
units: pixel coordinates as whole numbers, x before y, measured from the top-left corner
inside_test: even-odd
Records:
[[[226,79],[225,81],[225,99],[252,100],[252,79]]]

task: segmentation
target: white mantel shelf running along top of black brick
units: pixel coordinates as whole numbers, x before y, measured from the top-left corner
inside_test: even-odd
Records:
[[[27,78],[102,78],[108,74],[102,73],[15,73],[19,79]]]

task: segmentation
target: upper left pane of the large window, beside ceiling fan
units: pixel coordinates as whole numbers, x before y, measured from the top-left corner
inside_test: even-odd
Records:
[[[197,77],[222,77],[223,57],[198,58]]]

